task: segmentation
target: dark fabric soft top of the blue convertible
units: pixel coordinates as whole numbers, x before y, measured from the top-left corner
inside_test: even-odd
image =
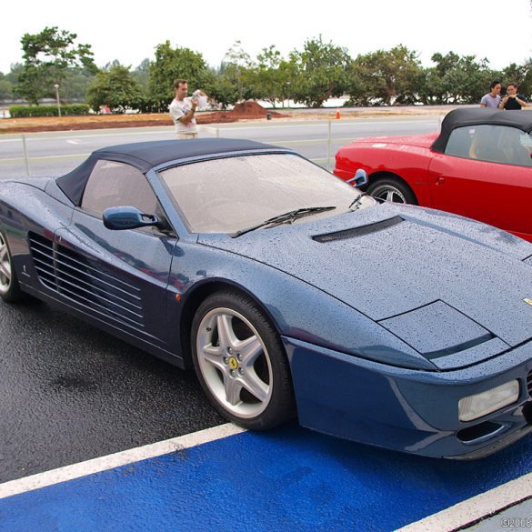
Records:
[[[252,140],[233,138],[197,138],[191,140],[160,140],[109,146],[92,153],[88,159],[72,172],[57,177],[57,186],[75,204],[80,205],[85,185],[95,164],[99,160],[117,161],[135,166],[143,174],[154,166],[163,165],[189,157],[216,156],[235,152],[253,152],[264,150],[284,150]]]

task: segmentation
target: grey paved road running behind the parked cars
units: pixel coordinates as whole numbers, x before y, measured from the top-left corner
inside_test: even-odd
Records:
[[[249,138],[287,146],[311,159],[319,159],[320,164],[326,165],[327,154],[330,153],[333,157],[336,150],[352,138],[428,133],[436,131],[438,123],[437,116],[335,120],[330,122],[330,149],[327,143],[327,121],[202,126],[200,136]],[[75,168],[97,148],[128,142],[171,139],[174,137],[173,133],[173,127],[170,126],[26,134],[29,173],[32,176],[60,175]],[[0,179],[15,176],[25,176],[22,136],[0,136]]]

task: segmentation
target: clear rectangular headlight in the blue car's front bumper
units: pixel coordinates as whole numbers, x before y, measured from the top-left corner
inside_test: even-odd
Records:
[[[458,401],[458,418],[460,421],[473,421],[515,403],[518,398],[519,381],[511,380],[481,394],[462,397]]]

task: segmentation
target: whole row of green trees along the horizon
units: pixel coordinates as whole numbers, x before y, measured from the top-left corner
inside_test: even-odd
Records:
[[[432,55],[434,65],[426,67],[417,51],[404,45],[353,58],[319,35],[287,56],[270,45],[252,57],[236,41],[216,68],[200,53],[169,41],[157,45],[155,57],[136,68],[118,61],[98,68],[91,45],[76,39],[55,26],[23,35],[23,62],[0,73],[0,101],[22,98],[38,105],[55,98],[59,85],[64,103],[86,102],[95,110],[107,105],[117,113],[128,108],[166,112],[176,77],[187,79],[192,90],[205,91],[220,108],[247,99],[266,100],[274,107],[286,100],[319,107],[342,95],[351,106],[475,104],[495,79],[503,85],[517,83],[522,94],[532,95],[532,58],[495,70],[485,58],[448,52]]]

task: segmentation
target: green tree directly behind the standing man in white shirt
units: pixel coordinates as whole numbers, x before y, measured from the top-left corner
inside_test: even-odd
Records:
[[[156,60],[149,65],[150,98],[165,108],[174,98],[174,80],[186,79],[191,90],[202,89],[207,95],[215,83],[203,55],[188,48],[172,48],[169,41],[156,47]]]

